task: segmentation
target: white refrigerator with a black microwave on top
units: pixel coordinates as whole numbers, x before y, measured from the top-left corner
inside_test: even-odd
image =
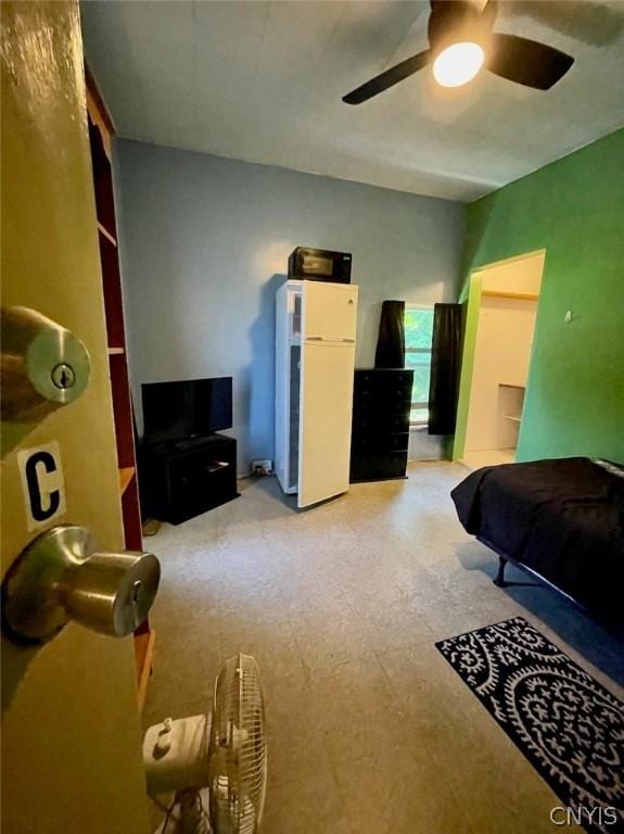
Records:
[[[276,472],[307,507],[348,490],[357,287],[285,281],[276,308]]]

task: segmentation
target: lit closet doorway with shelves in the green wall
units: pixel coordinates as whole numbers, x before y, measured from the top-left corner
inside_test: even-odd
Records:
[[[531,253],[471,276],[480,303],[461,455],[471,468],[515,460],[544,258]]]

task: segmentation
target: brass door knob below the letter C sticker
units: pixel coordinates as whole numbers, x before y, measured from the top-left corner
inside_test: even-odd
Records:
[[[74,620],[126,636],[148,616],[160,578],[152,553],[99,553],[84,527],[54,527],[22,552],[2,582],[4,631],[39,643]]]

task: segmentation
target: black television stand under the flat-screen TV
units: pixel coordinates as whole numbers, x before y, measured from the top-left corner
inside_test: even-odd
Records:
[[[150,518],[179,525],[239,497],[237,441],[208,434],[141,450],[139,483]]]

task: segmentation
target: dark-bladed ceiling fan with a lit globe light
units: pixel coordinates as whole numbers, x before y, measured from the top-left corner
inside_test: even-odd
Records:
[[[433,75],[443,87],[467,84],[482,67],[509,81],[548,90],[574,63],[555,47],[518,35],[493,31],[496,0],[430,0],[430,48],[386,70],[343,97],[346,104],[361,104],[433,63]]]

